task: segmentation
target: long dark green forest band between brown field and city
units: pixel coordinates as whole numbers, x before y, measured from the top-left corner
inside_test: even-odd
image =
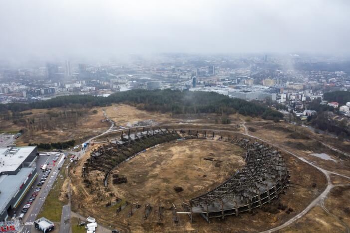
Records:
[[[216,113],[218,115],[239,113],[244,116],[262,116],[264,119],[281,119],[283,114],[258,103],[232,99],[215,92],[189,92],[166,90],[130,90],[109,97],[62,96],[32,104],[11,103],[0,105],[0,111],[21,112],[30,109],[56,107],[88,108],[126,103],[147,111],[174,114]]]

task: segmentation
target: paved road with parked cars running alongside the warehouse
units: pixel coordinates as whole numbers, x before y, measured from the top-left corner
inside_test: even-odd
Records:
[[[51,157],[54,157],[54,155],[50,156],[50,158]],[[64,159],[62,159],[62,158],[63,158],[63,155],[60,156],[60,158],[58,160],[59,162],[56,163],[56,165],[54,167],[52,167],[50,176],[45,181],[44,185],[41,186],[41,190],[39,192],[39,195],[36,197],[35,201],[31,205],[31,207],[29,208],[28,212],[25,214],[24,219],[23,219],[24,227],[23,227],[21,233],[30,233],[30,229],[34,224],[34,221],[36,220],[36,216],[38,215],[39,211],[41,210],[41,207],[44,204],[45,199],[46,199],[50,189],[52,188],[54,181],[56,180],[56,178],[59,174],[58,167],[62,166],[62,164],[64,162]]]

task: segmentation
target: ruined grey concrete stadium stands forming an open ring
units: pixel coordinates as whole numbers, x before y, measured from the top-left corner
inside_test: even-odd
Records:
[[[203,131],[200,134],[198,130]],[[108,143],[100,145],[90,152],[87,158],[82,176],[84,183],[89,186],[89,173],[99,170],[105,174],[104,183],[107,185],[111,171],[122,163],[129,161],[143,151],[159,146],[162,143],[185,139],[214,139],[215,131],[207,133],[202,129],[176,131],[175,129],[135,129],[131,133],[121,132],[119,139],[108,140]],[[229,179],[216,188],[200,196],[193,197],[188,203],[183,202],[183,211],[178,211],[175,206],[175,215],[188,214],[192,221],[193,214],[201,215],[207,222],[210,218],[224,218],[228,215],[237,215],[251,211],[271,203],[278,198],[280,193],[285,193],[289,184],[289,171],[281,152],[276,148],[252,140],[245,135],[232,133],[234,137],[218,140],[238,145],[246,149],[245,165],[242,169],[232,174]]]

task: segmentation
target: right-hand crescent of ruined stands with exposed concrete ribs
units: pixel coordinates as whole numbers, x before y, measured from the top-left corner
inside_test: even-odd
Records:
[[[246,165],[215,189],[190,202],[189,211],[209,218],[238,215],[261,207],[288,187],[288,170],[280,152],[247,138],[233,143],[246,148]]]

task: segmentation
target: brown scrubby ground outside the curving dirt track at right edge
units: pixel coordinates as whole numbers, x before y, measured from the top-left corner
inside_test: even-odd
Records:
[[[339,141],[330,136],[319,135],[305,128],[285,123],[252,122],[247,123],[247,126],[255,128],[255,131],[249,132],[252,135],[272,141],[326,170],[350,175],[350,159],[322,144],[323,142],[350,153],[349,142]],[[315,153],[318,153],[319,157],[312,155]],[[306,216],[281,232],[347,232],[345,224],[350,225],[350,179],[331,175],[331,182],[335,185],[347,185],[333,188],[325,200],[325,207],[331,214],[319,206],[315,207]]]

